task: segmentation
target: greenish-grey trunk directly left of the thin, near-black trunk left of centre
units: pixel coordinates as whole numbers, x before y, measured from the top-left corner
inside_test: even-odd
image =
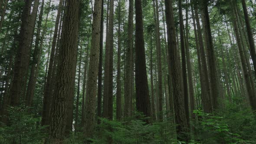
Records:
[[[92,22],[92,46],[89,63],[88,82],[86,87],[86,108],[85,108],[85,128],[84,137],[85,143],[90,143],[93,137],[95,127],[95,105],[97,95],[97,76],[98,76],[98,61],[100,47],[100,27],[102,15],[102,0],[96,0],[94,3],[94,13]]]

